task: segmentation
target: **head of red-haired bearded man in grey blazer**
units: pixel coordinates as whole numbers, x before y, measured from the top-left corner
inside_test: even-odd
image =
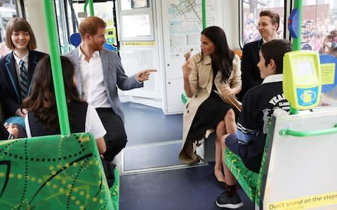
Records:
[[[79,24],[81,41],[88,45],[91,50],[103,50],[105,41],[105,28],[107,24],[101,18],[91,16],[84,18]]]

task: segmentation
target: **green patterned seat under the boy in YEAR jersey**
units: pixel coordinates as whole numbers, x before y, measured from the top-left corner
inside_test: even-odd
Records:
[[[267,138],[265,139],[265,148],[263,151],[259,174],[247,169],[241,158],[232,153],[230,149],[226,148],[224,151],[225,165],[227,165],[235,179],[237,179],[237,182],[240,184],[247,197],[249,197],[252,202],[255,202],[257,206],[260,206],[261,183],[265,169],[265,157],[267,155],[268,138],[269,132],[267,134]]]

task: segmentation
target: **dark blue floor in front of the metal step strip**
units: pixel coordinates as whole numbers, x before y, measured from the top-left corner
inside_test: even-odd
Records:
[[[212,210],[225,190],[213,175],[214,163],[203,167],[120,176],[121,210]],[[254,209],[241,187],[240,209]]]

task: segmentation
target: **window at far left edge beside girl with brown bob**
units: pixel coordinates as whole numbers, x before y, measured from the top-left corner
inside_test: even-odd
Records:
[[[0,57],[7,55],[9,49],[5,43],[5,31],[8,20],[17,17],[16,5],[13,1],[4,1],[0,6]]]

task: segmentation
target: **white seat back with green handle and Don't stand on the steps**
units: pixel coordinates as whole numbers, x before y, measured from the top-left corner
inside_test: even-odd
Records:
[[[275,110],[260,171],[263,208],[337,209],[336,118],[336,106],[297,115]]]

